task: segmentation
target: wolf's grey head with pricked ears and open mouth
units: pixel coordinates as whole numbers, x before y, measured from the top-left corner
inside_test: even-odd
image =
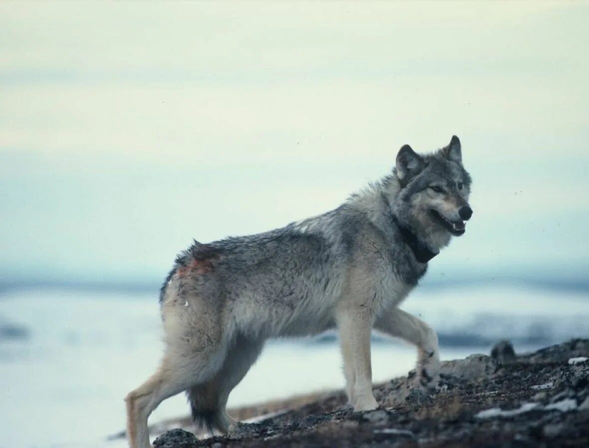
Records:
[[[399,223],[432,249],[444,247],[451,235],[462,235],[472,209],[468,205],[471,177],[462,166],[460,140],[429,155],[405,145],[396,158],[399,191],[392,201]]]

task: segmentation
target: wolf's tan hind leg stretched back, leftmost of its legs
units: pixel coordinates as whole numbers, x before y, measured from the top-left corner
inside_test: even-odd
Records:
[[[181,352],[168,346],[158,370],[137,389],[127,402],[127,436],[131,448],[151,448],[147,419],[165,399],[209,380],[223,362],[224,350]]]

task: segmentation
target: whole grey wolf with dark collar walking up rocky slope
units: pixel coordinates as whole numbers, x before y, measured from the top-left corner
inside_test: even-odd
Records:
[[[127,403],[131,448],[148,448],[148,416],[186,391],[196,423],[227,433],[231,390],[274,337],[337,329],[350,404],[372,392],[374,328],[418,349],[418,386],[435,385],[438,337],[398,308],[452,235],[472,215],[461,143],[419,155],[404,145],[395,167],[335,210],[286,227],[213,243],[194,241],[161,288],[165,351]]]

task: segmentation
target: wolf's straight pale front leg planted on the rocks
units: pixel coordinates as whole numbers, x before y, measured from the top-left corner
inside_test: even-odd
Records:
[[[372,319],[364,311],[346,310],[337,316],[337,327],[350,403],[356,411],[376,409],[378,403],[372,393],[370,366]]]

